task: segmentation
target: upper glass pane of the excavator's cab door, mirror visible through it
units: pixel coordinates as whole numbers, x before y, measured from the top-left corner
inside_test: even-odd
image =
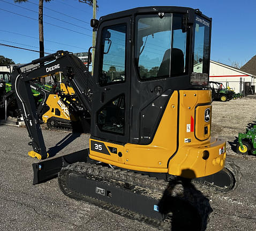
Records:
[[[100,86],[125,81],[126,25],[105,27],[102,32]]]

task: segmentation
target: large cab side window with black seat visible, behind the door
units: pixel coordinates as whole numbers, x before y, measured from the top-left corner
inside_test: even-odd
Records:
[[[142,80],[186,73],[187,32],[182,14],[136,18],[135,64]]]

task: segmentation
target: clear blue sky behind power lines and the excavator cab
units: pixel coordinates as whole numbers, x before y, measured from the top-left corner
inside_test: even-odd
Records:
[[[17,4],[0,0],[0,43],[39,50],[38,0]],[[97,19],[109,13],[139,6],[186,6],[213,18],[210,58],[231,65],[244,65],[256,55],[255,0],[98,0]],[[44,2],[44,51],[86,52],[92,44],[90,20],[93,9],[78,0]],[[29,63],[39,53],[3,47],[0,55],[15,63]]]

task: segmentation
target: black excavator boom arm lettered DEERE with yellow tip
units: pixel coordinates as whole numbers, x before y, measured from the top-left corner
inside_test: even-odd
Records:
[[[44,63],[44,65],[42,65]],[[25,66],[40,64],[32,69],[22,71]],[[36,157],[46,159],[48,153],[44,144],[40,127],[39,116],[31,91],[33,81],[40,76],[48,76],[56,72],[62,72],[66,84],[74,89],[76,100],[84,111],[91,113],[92,107],[92,76],[89,74],[82,61],[68,51],[57,51],[49,56],[33,60],[31,63],[15,66],[11,75],[13,90],[16,94],[18,107],[24,116],[24,121],[32,141]]]

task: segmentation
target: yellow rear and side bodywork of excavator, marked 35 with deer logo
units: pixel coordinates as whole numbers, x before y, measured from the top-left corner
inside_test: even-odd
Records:
[[[211,119],[205,119],[205,114],[210,116],[211,102],[210,90],[175,91],[152,143],[118,145],[99,141],[109,154],[92,150],[90,145],[89,157],[130,170],[168,172],[187,178],[219,172],[225,164],[225,141],[210,138]],[[122,155],[111,153],[109,147]]]

